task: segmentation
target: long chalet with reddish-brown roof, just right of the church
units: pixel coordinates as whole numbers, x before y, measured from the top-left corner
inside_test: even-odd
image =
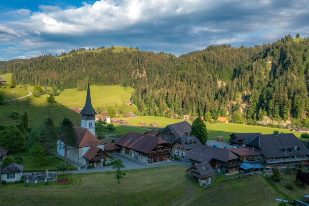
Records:
[[[171,145],[161,138],[136,132],[127,133],[116,145],[121,147],[121,153],[145,163],[168,160],[171,149]]]

